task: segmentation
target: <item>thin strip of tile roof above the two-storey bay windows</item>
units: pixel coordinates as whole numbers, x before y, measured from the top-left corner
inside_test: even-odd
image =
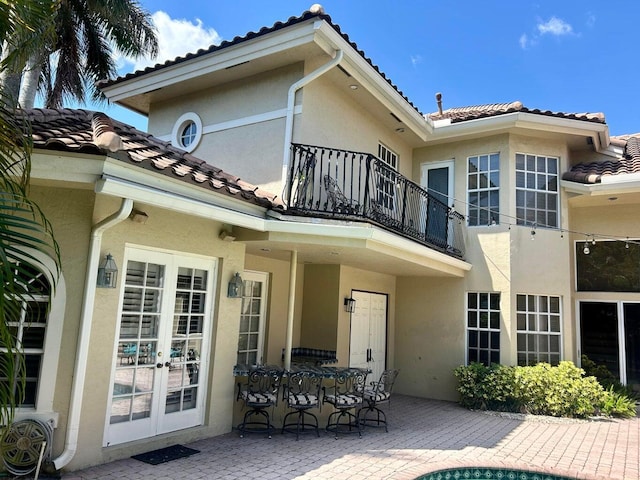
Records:
[[[469,107],[448,108],[447,110],[430,113],[427,117],[433,121],[451,120],[451,123],[466,122],[478,118],[495,117],[507,113],[523,112],[546,115],[549,117],[568,118],[571,120],[583,120],[587,122],[605,123],[602,113],[563,113],[552,112],[550,110],[540,110],[537,108],[527,108],[522,102],[511,103],[491,103],[487,105],[473,105]]]

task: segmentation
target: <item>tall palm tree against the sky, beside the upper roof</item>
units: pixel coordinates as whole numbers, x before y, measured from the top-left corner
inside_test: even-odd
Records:
[[[116,75],[113,48],[132,57],[158,53],[151,17],[136,0],[61,0],[54,23],[55,42],[25,71],[23,108],[33,106],[38,85],[48,108],[82,103],[87,93],[104,100],[95,83]]]

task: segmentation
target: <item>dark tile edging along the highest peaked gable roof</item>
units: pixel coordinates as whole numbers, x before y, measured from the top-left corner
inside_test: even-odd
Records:
[[[300,15],[299,17],[290,17],[286,22],[276,22],[274,23],[271,27],[263,27],[260,30],[258,30],[257,32],[248,32],[243,36],[236,36],[233,38],[233,40],[224,40],[223,42],[220,43],[220,45],[211,45],[209,48],[206,49],[200,49],[198,50],[196,53],[187,53],[185,56],[183,57],[176,57],[173,60],[167,60],[164,63],[157,63],[156,65],[152,66],[152,67],[147,67],[144,70],[137,70],[135,72],[132,73],[128,73],[124,76],[121,77],[117,77],[114,79],[105,79],[105,80],[101,80],[98,82],[98,87],[109,87],[111,85],[116,85],[118,83],[127,81],[127,80],[131,80],[137,77],[141,77],[143,75],[146,75],[148,73],[151,72],[156,72],[158,70],[162,70],[164,68],[168,68],[174,65],[178,65],[180,63],[183,62],[187,62],[189,60],[192,60],[194,58],[198,58],[198,57],[202,57],[208,54],[212,54],[215,52],[218,52],[220,50],[224,50],[225,48],[229,48],[235,45],[239,45],[241,43],[247,42],[249,40],[253,40],[255,38],[258,37],[262,37],[264,35],[267,35],[269,33],[278,31],[278,30],[282,30],[284,28],[290,27],[292,25],[297,25],[299,23],[305,22],[311,18],[319,18],[321,20],[324,20],[327,22],[327,24],[329,24],[340,36],[342,36],[342,38],[344,38],[349,45],[351,45],[351,47],[362,57],[364,58],[367,63],[369,63],[369,65],[371,65],[374,70],[389,84],[391,85],[391,87],[394,88],[394,90],[396,90],[401,96],[402,98],[404,98],[418,113],[420,113],[420,115],[422,115],[422,112],[420,112],[420,110],[418,110],[418,108],[406,97],[406,95],[404,93],[402,93],[402,91],[389,79],[387,78],[387,76],[380,70],[380,68],[375,65],[371,59],[369,57],[367,57],[365,55],[365,53],[360,50],[360,48],[358,47],[358,45],[355,42],[352,42],[349,39],[349,35],[347,35],[346,33],[343,33],[342,30],[340,29],[340,25],[333,23],[333,21],[331,20],[331,17],[327,14],[324,13],[324,9],[321,10],[314,10],[314,11],[305,11],[302,13],[302,15]]]

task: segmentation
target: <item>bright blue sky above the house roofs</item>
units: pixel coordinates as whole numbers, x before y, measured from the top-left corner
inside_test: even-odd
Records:
[[[142,0],[161,53],[153,64],[231,40],[313,2]],[[640,2],[611,0],[327,0],[361,50],[423,113],[520,100],[528,108],[603,112],[612,135],[640,132],[636,55]],[[145,66],[120,59],[120,73]],[[104,106],[102,106],[104,109]],[[111,116],[146,129],[119,108]]]

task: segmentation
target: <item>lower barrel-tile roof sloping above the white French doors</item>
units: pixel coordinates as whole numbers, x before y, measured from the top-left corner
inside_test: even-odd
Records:
[[[34,148],[97,155],[116,152],[113,158],[130,165],[261,207],[282,207],[276,195],[104,113],[31,109],[23,114],[31,121]]]

